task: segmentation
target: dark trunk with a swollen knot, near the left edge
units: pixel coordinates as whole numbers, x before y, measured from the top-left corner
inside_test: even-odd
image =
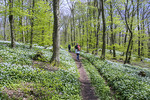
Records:
[[[10,22],[10,33],[11,33],[11,48],[14,48],[16,45],[15,45],[14,19],[13,19],[12,9],[13,9],[13,0],[9,0],[9,22]]]

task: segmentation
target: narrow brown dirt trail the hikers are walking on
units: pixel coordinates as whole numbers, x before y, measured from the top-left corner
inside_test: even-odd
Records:
[[[95,96],[94,88],[91,85],[90,80],[88,79],[88,76],[85,72],[84,67],[82,66],[82,62],[76,60],[76,54],[71,53],[72,58],[75,60],[76,65],[78,67],[79,73],[80,73],[80,82],[81,82],[81,96],[83,97],[83,100],[98,100],[98,97]],[[80,59],[83,59],[80,57]]]

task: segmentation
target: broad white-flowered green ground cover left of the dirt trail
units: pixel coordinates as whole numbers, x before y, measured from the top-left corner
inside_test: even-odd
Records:
[[[57,71],[33,67],[32,57],[40,51],[47,61],[52,52],[44,47],[0,43],[0,99],[81,100],[79,72],[71,55],[61,49]],[[48,63],[48,62],[46,62]]]

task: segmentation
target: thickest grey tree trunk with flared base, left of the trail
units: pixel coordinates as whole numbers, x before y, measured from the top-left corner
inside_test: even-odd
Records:
[[[53,14],[54,14],[54,27],[53,27],[53,55],[51,63],[54,62],[59,65],[59,47],[60,47],[60,24],[59,24],[59,0],[53,0]]]

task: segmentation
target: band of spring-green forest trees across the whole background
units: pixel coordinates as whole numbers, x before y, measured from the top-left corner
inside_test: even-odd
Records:
[[[148,0],[67,1],[71,13],[57,20],[52,11],[57,0],[2,0],[0,39],[11,40],[12,47],[16,41],[30,43],[30,48],[34,43],[59,48],[56,40],[61,35],[62,46],[78,42],[82,50],[101,55],[102,59],[122,58],[130,63],[132,55],[139,60],[150,57]],[[54,19],[58,21],[55,28]],[[61,34],[57,34],[59,23]]]

